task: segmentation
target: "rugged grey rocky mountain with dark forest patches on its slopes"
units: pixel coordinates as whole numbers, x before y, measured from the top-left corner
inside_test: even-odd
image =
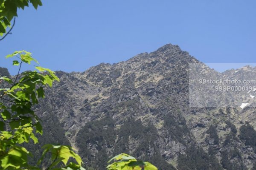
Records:
[[[71,144],[88,167],[105,170],[111,156],[128,153],[159,170],[256,168],[254,91],[191,86],[191,77],[253,79],[256,68],[219,73],[167,44],[125,62],[56,74],[61,81],[35,107],[46,134],[39,140]],[[39,146],[29,147],[39,155]]]

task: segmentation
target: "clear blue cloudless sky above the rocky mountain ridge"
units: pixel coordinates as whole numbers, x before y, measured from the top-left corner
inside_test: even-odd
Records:
[[[18,12],[4,56],[31,51],[41,66],[85,71],[177,44],[202,62],[256,62],[255,0],[43,0]],[[24,68],[29,69],[29,68]],[[218,69],[218,68],[217,68]]]

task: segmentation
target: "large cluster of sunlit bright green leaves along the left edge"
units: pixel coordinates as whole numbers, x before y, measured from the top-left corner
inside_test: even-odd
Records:
[[[48,68],[35,67],[35,71],[20,72],[23,63],[37,62],[32,54],[27,51],[15,51],[6,58],[15,58],[14,66],[19,66],[18,74],[12,79],[0,77],[0,168],[10,169],[40,169],[40,164],[45,155],[52,155],[52,163],[47,170],[84,170],[78,154],[69,146],[44,145],[44,152],[38,160],[38,164],[28,164],[28,157],[32,156],[23,143],[30,140],[38,144],[35,133],[43,134],[40,118],[32,110],[32,106],[38,104],[39,98],[44,98],[44,88],[52,87],[54,81],[59,81],[53,71]],[[70,162],[70,158],[77,163]]]

